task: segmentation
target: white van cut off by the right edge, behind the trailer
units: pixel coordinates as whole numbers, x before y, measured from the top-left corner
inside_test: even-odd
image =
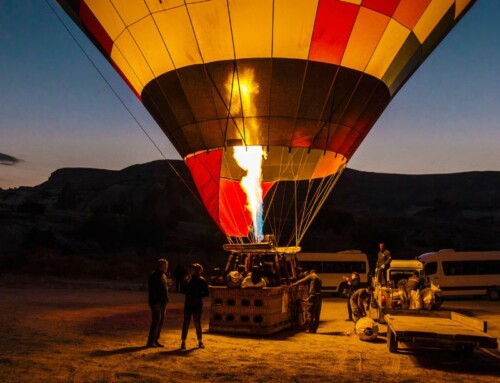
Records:
[[[422,254],[418,259],[443,296],[486,294],[493,301],[499,298],[500,251],[446,249]]]

